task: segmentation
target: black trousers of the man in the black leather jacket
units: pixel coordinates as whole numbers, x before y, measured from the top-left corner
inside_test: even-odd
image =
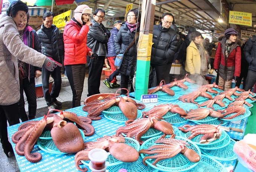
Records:
[[[98,59],[90,59],[87,56],[89,75],[88,75],[88,94],[87,97],[100,94],[101,72],[105,62],[105,56],[99,56]]]

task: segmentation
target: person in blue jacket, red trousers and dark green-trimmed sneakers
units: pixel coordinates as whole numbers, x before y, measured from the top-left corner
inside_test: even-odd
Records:
[[[114,68],[115,58],[116,58],[116,50],[114,46],[114,41],[116,38],[117,32],[120,30],[120,27],[122,26],[122,21],[117,20],[114,22],[114,27],[112,30],[110,30],[110,38],[108,39],[108,62],[111,66],[111,74],[108,78],[106,78],[103,82],[108,88],[116,88],[120,87],[119,84],[116,83],[116,76],[119,74],[119,71]]]

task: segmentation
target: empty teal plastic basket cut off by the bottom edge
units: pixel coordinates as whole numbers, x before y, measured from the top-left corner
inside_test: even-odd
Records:
[[[186,172],[227,172],[227,169],[214,158],[202,155],[197,166]]]

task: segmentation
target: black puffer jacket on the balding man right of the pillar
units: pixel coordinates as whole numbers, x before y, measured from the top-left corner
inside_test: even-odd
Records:
[[[175,54],[178,46],[177,33],[169,27],[168,29],[159,25],[154,25],[153,45],[151,51],[151,63],[155,65],[165,65]]]

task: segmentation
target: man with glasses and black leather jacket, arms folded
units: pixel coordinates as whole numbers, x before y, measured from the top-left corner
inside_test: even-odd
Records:
[[[87,97],[99,94],[99,86],[101,84],[101,72],[105,62],[105,57],[108,55],[108,31],[102,21],[105,19],[105,11],[96,9],[91,20],[92,26],[87,35],[87,46],[98,54],[98,58],[87,57],[89,75],[88,75],[88,94]]]

